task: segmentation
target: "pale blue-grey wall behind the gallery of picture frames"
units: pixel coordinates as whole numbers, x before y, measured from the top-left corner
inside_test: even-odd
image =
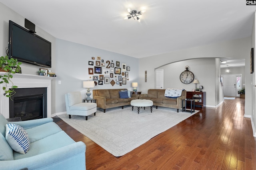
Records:
[[[103,72],[102,74],[88,74],[88,68],[94,68],[96,57],[98,56],[104,60],[104,63],[113,60],[114,66],[116,66],[116,61],[120,61],[120,66],[122,63],[125,63],[126,66],[130,66],[130,71],[126,71],[129,74],[129,80],[122,86],[118,84],[115,84],[114,86],[111,84],[97,85],[94,88],[91,88],[91,93],[93,89],[127,88],[128,90],[132,90],[132,82],[138,82],[138,59],[94,47],[88,47],[86,45],[72,43],[70,41],[56,39],[56,60],[58,61],[56,64],[56,113],[66,111],[64,98],[66,93],[81,91],[82,98],[86,98],[85,93],[87,92],[87,89],[83,88],[83,81],[92,80],[92,76],[103,75]],[[92,60],[92,57],[95,57],[95,60]],[[88,61],[94,61],[94,66],[88,65]],[[102,69],[110,71],[110,69],[114,68],[106,68],[105,65]],[[104,76],[110,77],[110,75]],[[115,82],[118,81],[118,76],[120,76],[120,74],[114,74],[114,77],[110,78],[110,81],[112,79],[114,79]],[[61,84],[58,84],[58,81],[61,81]],[[140,89],[138,88],[138,90]]]

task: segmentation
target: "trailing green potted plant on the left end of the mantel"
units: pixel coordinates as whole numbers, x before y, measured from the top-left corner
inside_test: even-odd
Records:
[[[6,55],[5,57],[0,57],[1,71],[6,72],[4,75],[0,75],[0,84],[5,83],[3,86],[4,96],[10,98],[11,100],[11,96],[16,93],[14,89],[18,88],[18,86],[14,86],[13,82],[10,79],[13,77],[12,74],[20,72],[20,64],[22,64],[22,62],[18,62],[17,59],[13,58],[9,59],[8,55]],[[11,87],[7,88],[7,84],[10,84]]]

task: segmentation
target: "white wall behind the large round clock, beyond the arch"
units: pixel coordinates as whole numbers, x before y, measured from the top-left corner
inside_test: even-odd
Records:
[[[187,91],[192,91],[196,88],[196,84],[184,84],[180,81],[180,74],[189,66],[189,70],[194,73],[194,76],[200,82],[197,87],[203,86],[202,91],[206,93],[206,107],[215,107],[215,59],[202,58],[179,61],[176,63],[167,64],[157,69],[164,70],[164,89],[166,88],[184,88]]]

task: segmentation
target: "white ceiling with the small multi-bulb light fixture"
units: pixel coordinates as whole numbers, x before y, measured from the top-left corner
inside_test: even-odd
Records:
[[[0,0],[58,39],[136,58],[249,37],[245,0]],[[146,12],[139,23],[127,8]],[[22,25],[24,26],[24,25]]]

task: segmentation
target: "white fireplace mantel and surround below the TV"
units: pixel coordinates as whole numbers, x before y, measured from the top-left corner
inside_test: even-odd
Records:
[[[4,75],[6,72],[0,72],[0,75]],[[47,117],[51,117],[51,80],[54,77],[37,76],[30,74],[12,74],[13,78],[10,79],[18,88],[47,88]],[[9,98],[4,96],[3,86],[5,83],[0,84],[0,113],[5,118],[9,118]],[[10,83],[7,84],[7,88],[10,88]]]

